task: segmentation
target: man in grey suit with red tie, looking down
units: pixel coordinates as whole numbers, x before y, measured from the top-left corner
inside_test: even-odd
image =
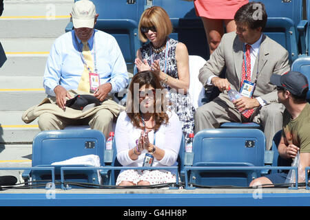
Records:
[[[268,150],[273,135],[282,129],[284,111],[278,103],[276,87],[269,84],[270,77],[290,70],[289,54],[276,41],[262,34],[267,22],[262,3],[243,5],[234,19],[236,32],[224,34],[218,48],[200,69],[200,82],[206,88],[216,86],[222,93],[196,110],[195,132],[218,128],[224,122],[257,122],[264,129]],[[225,78],[220,78],[224,67]],[[227,91],[240,91],[242,83],[246,82],[255,83],[253,95],[231,102]]]

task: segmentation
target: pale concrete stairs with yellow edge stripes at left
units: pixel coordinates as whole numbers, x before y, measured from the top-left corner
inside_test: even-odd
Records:
[[[8,60],[0,68],[0,168],[31,166],[37,120],[23,112],[45,98],[43,73],[54,40],[65,33],[74,0],[4,0],[0,41]],[[21,171],[0,170],[0,175]]]

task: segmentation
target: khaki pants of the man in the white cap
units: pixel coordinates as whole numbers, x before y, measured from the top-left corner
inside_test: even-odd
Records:
[[[60,130],[69,125],[90,125],[91,129],[99,130],[105,138],[109,137],[112,130],[112,122],[114,115],[107,109],[101,109],[94,115],[83,119],[71,119],[56,116],[52,113],[43,113],[38,118],[39,129],[46,130]]]

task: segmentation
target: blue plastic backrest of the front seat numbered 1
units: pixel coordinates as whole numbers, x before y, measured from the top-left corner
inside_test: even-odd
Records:
[[[50,165],[72,157],[98,155],[104,166],[105,137],[96,130],[41,131],[32,143],[32,166]]]

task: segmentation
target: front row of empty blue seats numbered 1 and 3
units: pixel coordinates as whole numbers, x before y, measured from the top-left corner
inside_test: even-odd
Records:
[[[72,157],[97,155],[101,167],[121,166],[116,159],[115,142],[112,151],[107,152],[104,140],[103,133],[96,130],[41,131],[34,137],[32,144],[32,167],[54,167],[56,181],[60,181],[61,168],[68,168],[70,165],[51,164]],[[203,130],[194,137],[192,154],[185,153],[183,137],[178,156],[180,179],[203,186],[249,186],[252,179],[267,174],[268,166],[278,165],[276,147],[273,147],[273,151],[265,151],[265,135],[258,129]],[[192,161],[188,159],[191,158],[189,155],[194,155]],[[119,173],[119,169],[117,172],[101,170],[99,173],[102,181],[100,181],[96,169],[85,169],[92,166],[71,166],[79,166],[80,170],[65,170],[65,181],[113,186]],[[266,166],[266,168],[264,170],[218,168],[223,166],[248,168]],[[50,170],[30,169],[25,170],[23,179],[39,181],[42,184],[41,181],[50,181],[52,176]]]

